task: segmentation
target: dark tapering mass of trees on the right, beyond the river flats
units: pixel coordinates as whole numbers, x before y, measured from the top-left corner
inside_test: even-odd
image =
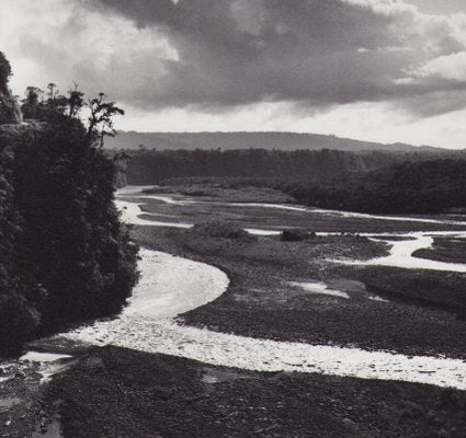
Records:
[[[436,214],[466,208],[466,160],[406,161],[331,183],[282,183],[299,203],[379,214]]]

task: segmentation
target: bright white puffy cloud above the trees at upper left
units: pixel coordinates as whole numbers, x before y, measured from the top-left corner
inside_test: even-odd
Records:
[[[77,81],[89,94],[138,102],[175,51],[163,34],[137,28],[120,15],[104,16],[71,0],[0,0],[8,19],[0,26],[0,50],[13,66],[12,87],[56,82],[62,90]],[[148,59],[150,69],[147,68]]]

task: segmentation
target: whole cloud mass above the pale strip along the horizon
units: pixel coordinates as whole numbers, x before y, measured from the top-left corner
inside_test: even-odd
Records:
[[[145,111],[388,102],[431,115],[466,102],[466,19],[425,15],[407,1],[0,3],[14,15],[10,34],[0,28],[13,67],[18,59],[37,79],[76,80]]]

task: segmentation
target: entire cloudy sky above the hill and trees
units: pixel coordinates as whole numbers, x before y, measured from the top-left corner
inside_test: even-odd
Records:
[[[466,148],[464,0],[0,0],[10,87],[105,92],[139,131]]]

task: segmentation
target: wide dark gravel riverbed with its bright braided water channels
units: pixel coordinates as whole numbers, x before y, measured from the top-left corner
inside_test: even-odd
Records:
[[[71,358],[30,353],[2,366],[3,436],[462,436],[464,265],[441,261],[439,275],[402,260],[442,233],[462,242],[461,220],[135,191],[120,207],[147,247],[141,283],[117,318],[31,347]],[[196,215],[260,231],[191,229]],[[338,231],[364,221],[371,235]],[[312,223],[306,239],[276,235]],[[398,266],[372,262],[384,257]],[[430,278],[428,300],[412,276]]]

